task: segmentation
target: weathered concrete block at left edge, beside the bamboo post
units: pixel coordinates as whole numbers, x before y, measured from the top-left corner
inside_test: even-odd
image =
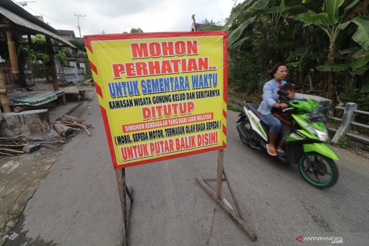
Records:
[[[0,122],[0,137],[12,137],[25,133],[42,135],[49,133],[50,129],[47,109],[3,113],[3,120]]]

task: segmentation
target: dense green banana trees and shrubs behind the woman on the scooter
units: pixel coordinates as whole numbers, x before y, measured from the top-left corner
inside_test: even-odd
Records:
[[[228,83],[245,94],[261,94],[267,69],[287,62],[286,80],[302,85],[302,92],[327,96],[329,91],[333,97],[344,88],[360,90],[369,78],[368,6],[369,0],[236,5],[223,28],[228,30]]]

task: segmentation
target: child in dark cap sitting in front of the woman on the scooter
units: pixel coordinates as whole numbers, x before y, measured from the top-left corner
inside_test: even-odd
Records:
[[[286,83],[282,86],[282,90],[287,90],[288,95],[281,95],[280,100],[283,103],[289,103],[295,97],[296,89],[301,86],[294,85],[293,83]],[[286,156],[283,150],[283,145],[286,142],[286,137],[292,133],[292,126],[294,124],[293,118],[290,113],[282,112],[281,108],[273,108],[271,110],[273,116],[282,122],[282,139],[277,147],[277,154],[280,156]]]

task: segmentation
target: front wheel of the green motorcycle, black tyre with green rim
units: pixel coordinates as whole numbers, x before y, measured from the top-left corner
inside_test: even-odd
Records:
[[[305,153],[300,159],[299,170],[306,182],[319,189],[333,186],[338,179],[336,163],[318,153]]]

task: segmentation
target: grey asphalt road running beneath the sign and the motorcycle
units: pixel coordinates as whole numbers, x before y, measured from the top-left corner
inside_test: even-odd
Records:
[[[28,201],[14,229],[19,236],[5,245],[121,244],[119,195],[96,96],[74,115],[94,126],[93,136],[81,132],[65,145]],[[224,168],[257,241],[196,182],[216,176],[217,152],[208,152],[126,169],[134,198],[129,245],[206,245],[211,228],[208,245],[300,245],[301,235],[303,245],[334,245],[331,237],[342,237],[338,245],[369,245],[369,159],[335,149],[338,183],[319,190],[296,166],[243,145],[237,115],[227,112]],[[232,204],[225,185],[223,198]]]

